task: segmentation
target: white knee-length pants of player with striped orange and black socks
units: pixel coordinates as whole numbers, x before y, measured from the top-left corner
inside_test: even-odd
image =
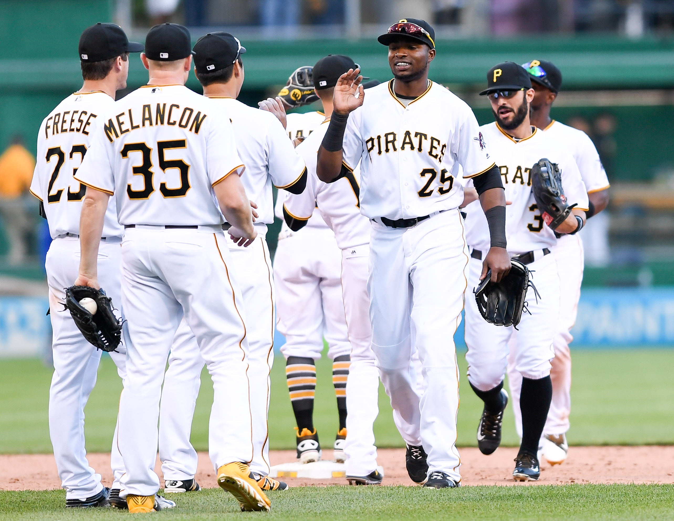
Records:
[[[274,255],[276,328],[285,336],[281,353],[317,360],[351,352],[341,282],[342,251],[330,228],[302,228],[280,239]],[[348,431],[348,429],[347,429]]]

